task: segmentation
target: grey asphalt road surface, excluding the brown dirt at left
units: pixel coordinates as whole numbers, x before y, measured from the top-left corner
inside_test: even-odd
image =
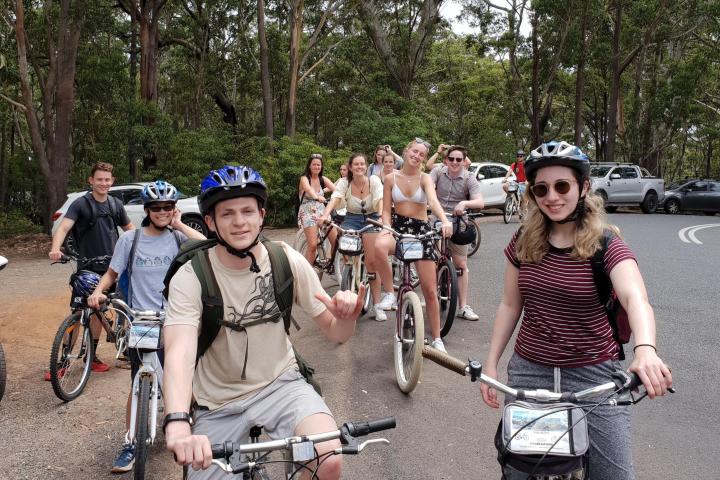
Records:
[[[678,232],[694,225],[720,227],[720,217],[618,213],[610,220],[640,263],[657,318],[658,349],[673,368],[678,391],[633,407],[637,478],[718,478],[720,228],[698,231],[702,245],[681,241]],[[482,246],[470,259],[471,304],[480,321],[457,319],[446,339],[458,358],[485,358],[502,292],[502,249],[516,228],[498,217],[483,227]],[[319,340],[314,327],[295,334],[338,421],[397,418],[397,429],[386,435],[391,446],[345,458],[346,478],[498,478],[492,438],[499,412],[482,403],[468,378],[428,361],[422,383],[402,394],[395,386],[392,328],[390,322],[361,319],[355,336],[340,346]]]

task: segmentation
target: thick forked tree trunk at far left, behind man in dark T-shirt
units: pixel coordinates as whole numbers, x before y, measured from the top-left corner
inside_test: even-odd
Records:
[[[35,107],[30,88],[27,57],[32,48],[27,43],[23,1],[16,2],[15,36],[18,50],[18,76],[25,105],[25,117],[35,160],[45,179],[45,215],[43,225],[50,231],[50,215],[65,201],[72,156],[72,113],[75,103],[75,65],[83,20],[71,12],[71,0],[60,0],[57,25],[45,25],[48,40],[47,71],[36,67],[41,91],[41,115]],[[46,9],[52,8],[50,3]],[[49,11],[46,18],[51,18]],[[55,27],[55,28],[54,28]],[[55,31],[53,31],[55,30]]]

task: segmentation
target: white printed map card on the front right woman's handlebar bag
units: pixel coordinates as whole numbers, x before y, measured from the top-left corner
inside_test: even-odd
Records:
[[[545,453],[552,447],[551,453],[566,455],[571,453],[570,435],[568,434],[570,425],[567,410],[548,412],[547,409],[533,410],[518,405],[510,407],[511,451],[516,453]],[[533,420],[535,421],[533,422]],[[518,430],[520,432],[515,435]],[[558,439],[560,440],[558,441]]]

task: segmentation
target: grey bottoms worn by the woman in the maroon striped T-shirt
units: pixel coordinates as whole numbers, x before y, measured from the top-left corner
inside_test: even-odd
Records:
[[[617,360],[597,365],[560,369],[560,390],[579,391],[611,381],[610,375],[621,368]],[[508,363],[508,385],[511,387],[553,390],[554,369],[525,360],[514,353]],[[506,397],[505,402],[513,398]],[[587,410],[586,410],[587,411]],[[590,437],[589,476],[592,480],[632,480],[632,430],[630,407],[601,405],[587,416]],[[506,467],[505,479],[526,480],[527,474]]]

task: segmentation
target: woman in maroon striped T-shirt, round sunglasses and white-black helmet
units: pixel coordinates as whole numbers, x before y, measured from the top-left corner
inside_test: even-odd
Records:
[[[628,370],[638,374],[650,398],[664,395],[672,376],[657,355],[645,284],[617,227],[606,223],[602,200],[590,191],[589,171],[587,155],[566,142],[543,144],[525,161],[529,208],[522,230],[505,249],[505,288],[483,373],[497,378],[498,361],[522,314],[508,385],[553,390],[561,384],[562,391],[578,391],[610,381],[621,368],[621,347],[592,268],[593,256],[609,238],[603,267],[635,340]],[[496,391],[485,385],[481,390],[485,403],[498,408]],[[593,480],[634,478],[629,407],[600,405],[589,413],[588,427]],[[509,466],[504,473],[508,480],[527,478]]]

